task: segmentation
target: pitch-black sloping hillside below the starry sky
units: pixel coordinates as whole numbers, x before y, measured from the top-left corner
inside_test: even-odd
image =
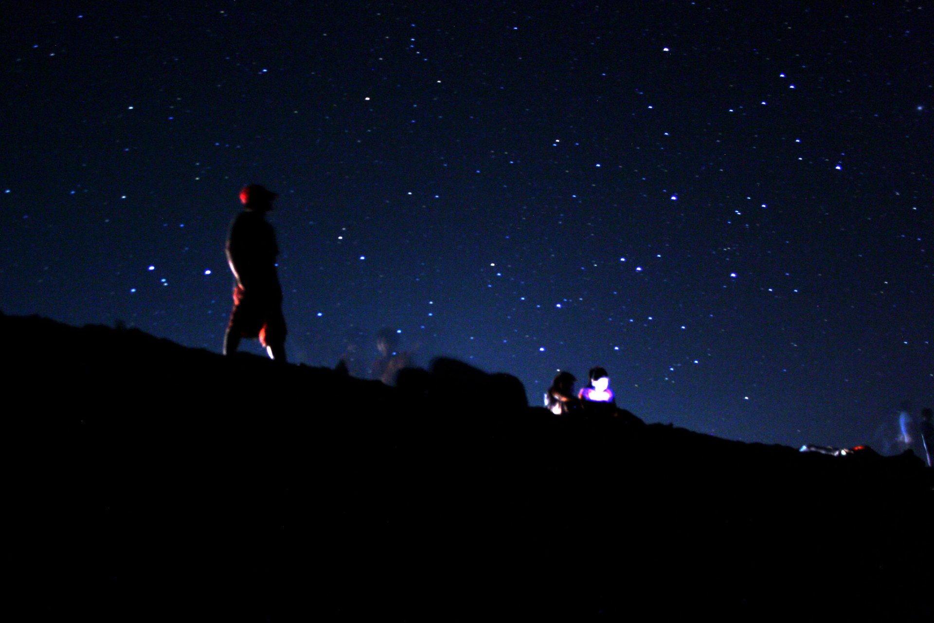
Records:
[[[913,457],[553,418],[454,362],[389,389],[0,321],[7,588],[36,619],[934,614]]]

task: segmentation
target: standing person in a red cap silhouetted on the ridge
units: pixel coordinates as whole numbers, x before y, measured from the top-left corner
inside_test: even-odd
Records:
[[[276,233],[266,221],[278,195],[259,184],[240,191],[244,210],[231,223],[227,262],[236,287],[233,311],[224,334],[224,354],[231,355],[244,337],[260,338],[276,361],[286,361],[286,321],[282,316],[282,287],[276,275]]]

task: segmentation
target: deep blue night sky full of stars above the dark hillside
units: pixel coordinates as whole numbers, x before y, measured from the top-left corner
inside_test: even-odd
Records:
[[[533,404],[602,365],[649,422],[883,449],[934,404],[934,5],[831,4],[7,6],[0,309],[219,352],[261,183],[290,361],[391,327]]]

